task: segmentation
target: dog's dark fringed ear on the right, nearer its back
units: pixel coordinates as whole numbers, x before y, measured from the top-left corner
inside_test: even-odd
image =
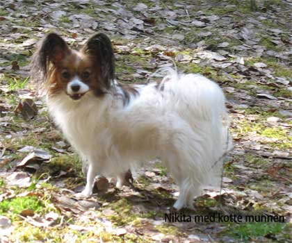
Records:
[[[99,82],[108,90],[115,78],[115,56],[111,40],[103,33],[93,35],[86,42],[82,52],[93,59]]]

